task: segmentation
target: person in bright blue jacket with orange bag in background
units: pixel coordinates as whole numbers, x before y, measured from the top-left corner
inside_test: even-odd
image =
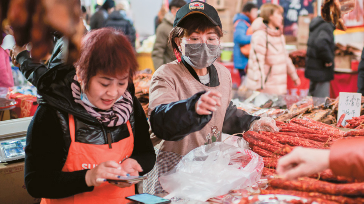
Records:
[[[250,44],[252,35],[247,35],[246,31],[250,24],[258,16],[258,6],[252,2],[244,5],[242,12],[234,16],[234,67],[239,70],[240,77],[245,76],[245,67],[248,64],[248,57],[241,53],[240,47]]]

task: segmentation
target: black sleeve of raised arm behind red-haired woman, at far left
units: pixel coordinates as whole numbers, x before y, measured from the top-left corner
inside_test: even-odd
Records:
[[[35,62],[30,57],[27,50],[20,52],[16,56],[16,61],[20,64],[19,69],[21,73],[23,73],[25,78],[34,86],[37,86],[39,78],[48,70],[48,67],[46,65]]]

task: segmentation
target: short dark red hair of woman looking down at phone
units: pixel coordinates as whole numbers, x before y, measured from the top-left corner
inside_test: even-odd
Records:
[[[82,38],[81,54],[75,67],[87,89],[91,77],[98,73],[120,76],[129,72],[131,81],[138,63],[134,49],[122,32],[114,28],[101,28],[92,30]]]

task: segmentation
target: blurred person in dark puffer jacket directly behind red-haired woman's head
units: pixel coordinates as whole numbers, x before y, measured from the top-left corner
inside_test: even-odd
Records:
[[[136,32],[133,22],[126,16],[124,4],[117,3],[115,5],[115,11],[110,13],[103,27],[112,27],[122,31],[135,49]]]

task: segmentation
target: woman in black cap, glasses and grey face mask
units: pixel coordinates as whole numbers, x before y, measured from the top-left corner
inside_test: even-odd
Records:
[[[177,60],[162,65],[150,85],[148,114],[157,162],[143,191],[151,194],[165,193],[159,176],[194,148],[221,141],[222,132],[242,133],[260,125],[277,131],[273,119],[233,106],[229,70],[215,63],[223,35],[217,11],[193,1],[178,10],[173,26],[169,42]]]

